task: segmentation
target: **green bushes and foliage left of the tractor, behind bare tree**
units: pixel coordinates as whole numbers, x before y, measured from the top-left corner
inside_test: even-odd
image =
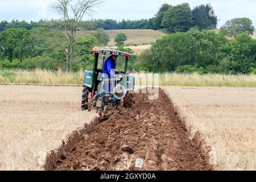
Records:
[[[29,42],[25,41],[27,40],[25,35],[29,36]],[[65,70],[65,49],[67,49],[67,46],[62,31],[43,27],[33,28],[30,31],[24,28],[11,28],[1,32],[0,36],[2,36],[0,42],[3,50],[0,52],[0,59],[10,57],[10,60],[13,60],[0,61],[0,68]],[[73,49],[74,61],[72,67],[74,71],[92,67],[93,55],[90,51],[96,44],[98,44],[98,39],[93,35],[85,35],[76,40]],[[30,46],[30,49],[26,49],[27,46]],[[18,51],[24,54],[22,59],[19,60],[20,55],[16,53]]]

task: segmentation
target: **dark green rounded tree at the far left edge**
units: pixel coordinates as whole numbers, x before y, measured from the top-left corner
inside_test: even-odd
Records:
[[[3,59],[23,60],[33,52],[31,32],[25,28],[9,28],[0,33],[0,52]]]

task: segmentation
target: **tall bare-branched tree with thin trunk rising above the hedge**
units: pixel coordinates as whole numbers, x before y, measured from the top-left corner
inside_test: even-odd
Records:
[[[72,68],[73,47],[81,20],[85,14],[92,13],[94,7],[101,5],[103,2],[105,0],[56,0],[51,6],[64,19],[65,34],[68,41],[65,55],[69,72]]]

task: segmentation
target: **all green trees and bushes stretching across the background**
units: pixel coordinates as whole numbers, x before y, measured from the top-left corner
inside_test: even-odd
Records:
[[[2,21],[0,68],[92,69],[91,49],[109,42],[104,29],[151,28],[170,35],[153,43],[138,61],[133,57],[129,67],[137,71],[255,73],[256,43],[250,36],[254,32],[253,22],[249,18],[235,18],[228,20],[219,33],[209,31],[216,24],[217,16],[210,4],[191,10],[188,3],[164,4],[153,18],[142,20]],[[97,31],[79,37],[79,30]],[[119,34],[115,42],[121,51],[132,53],[131,49],[123,48],[126,39],[126,35]]]

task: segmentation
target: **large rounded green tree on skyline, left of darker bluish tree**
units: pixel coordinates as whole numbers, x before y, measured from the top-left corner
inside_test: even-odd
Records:
[[[192,27],[192,11],[188,3],[170,7],[163,16],[162,26],[169,32],[185,32]]]

